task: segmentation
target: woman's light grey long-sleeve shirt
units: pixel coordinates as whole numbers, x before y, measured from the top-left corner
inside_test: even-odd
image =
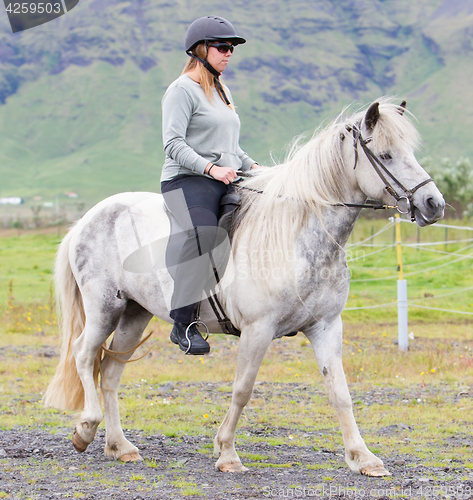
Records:
[[[180,174],[206,175],[209,162],[235,170],[249,170],[255,163],[239,146],[240,118],[213,91],[210,102],[188,75],[168,87],[162,101],[166,160],[161,181]],[[233,103],[228,89],[226,93]]]

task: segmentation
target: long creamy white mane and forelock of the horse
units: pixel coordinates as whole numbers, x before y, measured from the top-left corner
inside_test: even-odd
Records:
[[[415,149],[419,135],[404,109],[388,98],[378,102],[380,118],[369,147],[378,154]],[[361,123],[364,116],[364,111],[349,118],[340,115],[305,145],[295,143],[283,164],[240,184],[243,199],[235,248],[245,241],[253,271],[264,269],[267,276],[275,268],[290,272],[293,243],[309,217],[315,214],[321,220],[325,207],[348,202],[342,138],[351,141],[347,127]]]

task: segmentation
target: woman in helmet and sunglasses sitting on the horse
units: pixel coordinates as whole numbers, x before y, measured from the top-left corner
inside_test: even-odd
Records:
[[[186,354],[210,351],[195,322],[208,269],[197,266],[195,259],[212,250],[219,203],[232,190],[237,171],[258,166],[238,144],[240,119],[219,80],[235,46],[245,42],[226,19],[207,16],[194,21],[185,40],[191,59],[162,101],[166,160],[161,192],[187,233],[182,248],[176,249],[171,341]]]

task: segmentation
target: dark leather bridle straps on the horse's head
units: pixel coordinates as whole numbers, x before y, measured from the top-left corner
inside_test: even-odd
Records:
[[[347,126],[347,131],[351,132],[353,134],[353,148],[355,150],[355,165],[354,169],[356,168],[356,165],[358,163],[358,143],[360,144],[361,148],[363,149],[363,152],[365,153],[366,157],[368,158],[369,162],[373,166],[375,172],[378,174],[380,179],[384,182],[385,189],[386,191],[396,200],[396,205],[392,208],[396,208],[397,211],[401,214],[411,214],[411,221],[414,222],[416,220],[415,218],[415,206],[414,203],[412,202],[412,198],[414,196],[414,193],[420,189],[422,186],[425,186],[429,182],[433,182],[433,180],[429,177],[425,181],[420,182],[417,184],[417,186],[413,187],[412,189],[407,189],[404,187],[404,185],[394,177],[394,175],[383,165],[382,161],[371,151],[371,149],[367,146],[373,138],[368,137],[367,139],[363,139],[363,136],[361,135],[361,130],[360,130],[360,124],[357,123],[353,125],[353,127]],[[403,191],[403,195],[397,194],[396,190],[393,188],[392,184],[389,182],[387,177],[390,177],[394,183],[396,183]],[[405,208],[402,208],[399,206],[399,202],[405,203]],[[347,206],[357,206],[357,207],[370,207],[370,208],[391,208],[387,207],[385,205],[383,206],[375,206],[375,205],[354,205],[354,204],[347,204]]]

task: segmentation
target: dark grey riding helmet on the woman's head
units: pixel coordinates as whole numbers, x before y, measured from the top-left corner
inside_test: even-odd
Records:
[[[246,40],[238,36],[233,24],[223,17],[206,16],[196,19],[187,29],[185,48],[189,53],[200,42],[211,40],[224,40],[232,42],[233,45],[246,43]]]

